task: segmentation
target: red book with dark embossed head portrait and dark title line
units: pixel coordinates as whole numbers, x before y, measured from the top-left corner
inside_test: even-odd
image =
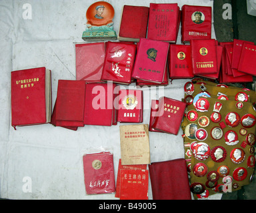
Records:
[[[140,39],[133,67],[133,79],[162,83],[167,66],[169,43]]]

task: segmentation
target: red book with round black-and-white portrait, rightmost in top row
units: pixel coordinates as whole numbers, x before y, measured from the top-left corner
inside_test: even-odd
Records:
[[[211,7],[183,5],[181,8],[181,41],[211,39]]]

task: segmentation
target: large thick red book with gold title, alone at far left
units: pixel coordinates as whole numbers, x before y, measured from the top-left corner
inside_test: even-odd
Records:
[[[11,125],[51,122],[51,71],[45,67],[11,72]]]

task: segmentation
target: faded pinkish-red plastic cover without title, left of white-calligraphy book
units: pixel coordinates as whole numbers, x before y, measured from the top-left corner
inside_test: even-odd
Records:
[[[100,82],[105,60],[105,43],[75,45],[76,80]]]

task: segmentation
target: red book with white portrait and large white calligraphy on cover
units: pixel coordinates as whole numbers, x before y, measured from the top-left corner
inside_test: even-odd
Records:
[[[135,61],[136,45],[108,41],[106,47],[101,80],[129,85]]]

